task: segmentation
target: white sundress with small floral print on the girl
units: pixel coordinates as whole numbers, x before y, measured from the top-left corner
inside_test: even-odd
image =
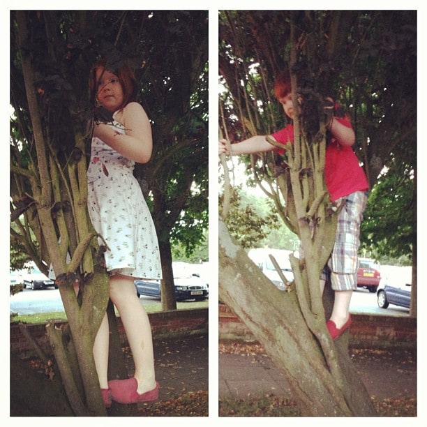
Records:
[[[124,133],[117,121],[110,126]],[[133,176],[134,167],[133,160],[93,137],[87,170],[89,216],[107,242],[109,249],[104,257],[110,274],[160,279],[156,229],[140,184]]]

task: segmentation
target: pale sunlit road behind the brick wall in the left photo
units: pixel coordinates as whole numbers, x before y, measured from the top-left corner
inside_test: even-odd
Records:
[[[160,300],[151,297],[140,297],[142,304],[153,304]],[[24,289],[22,292],[10,297],[10,313],[17,313],[18,315],[36,314],[36,313],[50,313],[63,311],[63,304],[59,290],[45,289],[45,290],[31,290]]]

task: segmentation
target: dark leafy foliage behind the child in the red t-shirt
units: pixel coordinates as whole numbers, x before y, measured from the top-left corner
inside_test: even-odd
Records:
[[[354,148],[371,189],[380,179],[380,172],[382,185],[388,174],[399,173],[389,167],[396,160],[413,171],[417,153],[417,12],[317,10],[298,15],[301,29],[320,33],[320,43],[325,42],[322,54],[315,57],[317,66],[307,64],[306,57],[301,58],[301,70],[310,68],[302,83],[322,88],[325,95],[333,96],[350,113],[357,133]],[[219,22],[220,82],[227,87],[222,94],[224,121],[220,124],[225,124],[230,142],[280,129],[285,118],[271,88],[276,75],[289,65],[290,12],[230,10],[220,13]],[[299,42],[315,52],[309,38]],[[246,160],[249,164],[250,161],[255,181],[269,189],[274,174],[280,173],[278,158],[254,156]],[[274,165],[271,170],[266,169],[266,163]],[[414,174],[406,176],[410,191],[414,188]],[[366,214],[377,230],[385,231],[374,193]],[[281,207],[278,210],[283,211]],[[391,244],[409,241],[398,250],[412,256],[415,227],[412,214],[407,218],[408,227],[399,230],[404,234],[397,236],[396,228],[389,227],[386,238]],[[366,245],[388,245],[384,234],[376,234],[375,227],[371,227],[369,236]],[[365,237],[362,233],[361,239]]]

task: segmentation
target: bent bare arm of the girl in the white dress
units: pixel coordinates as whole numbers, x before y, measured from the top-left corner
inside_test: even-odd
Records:
[[[137,163],[147,163],[153,151],[153,140],[150,122],[142,106],[129,103],[117,113],[115,119],[124,126],[124,134],[100,123],[95,125],[93,136],[103,140],[124,157]]]

